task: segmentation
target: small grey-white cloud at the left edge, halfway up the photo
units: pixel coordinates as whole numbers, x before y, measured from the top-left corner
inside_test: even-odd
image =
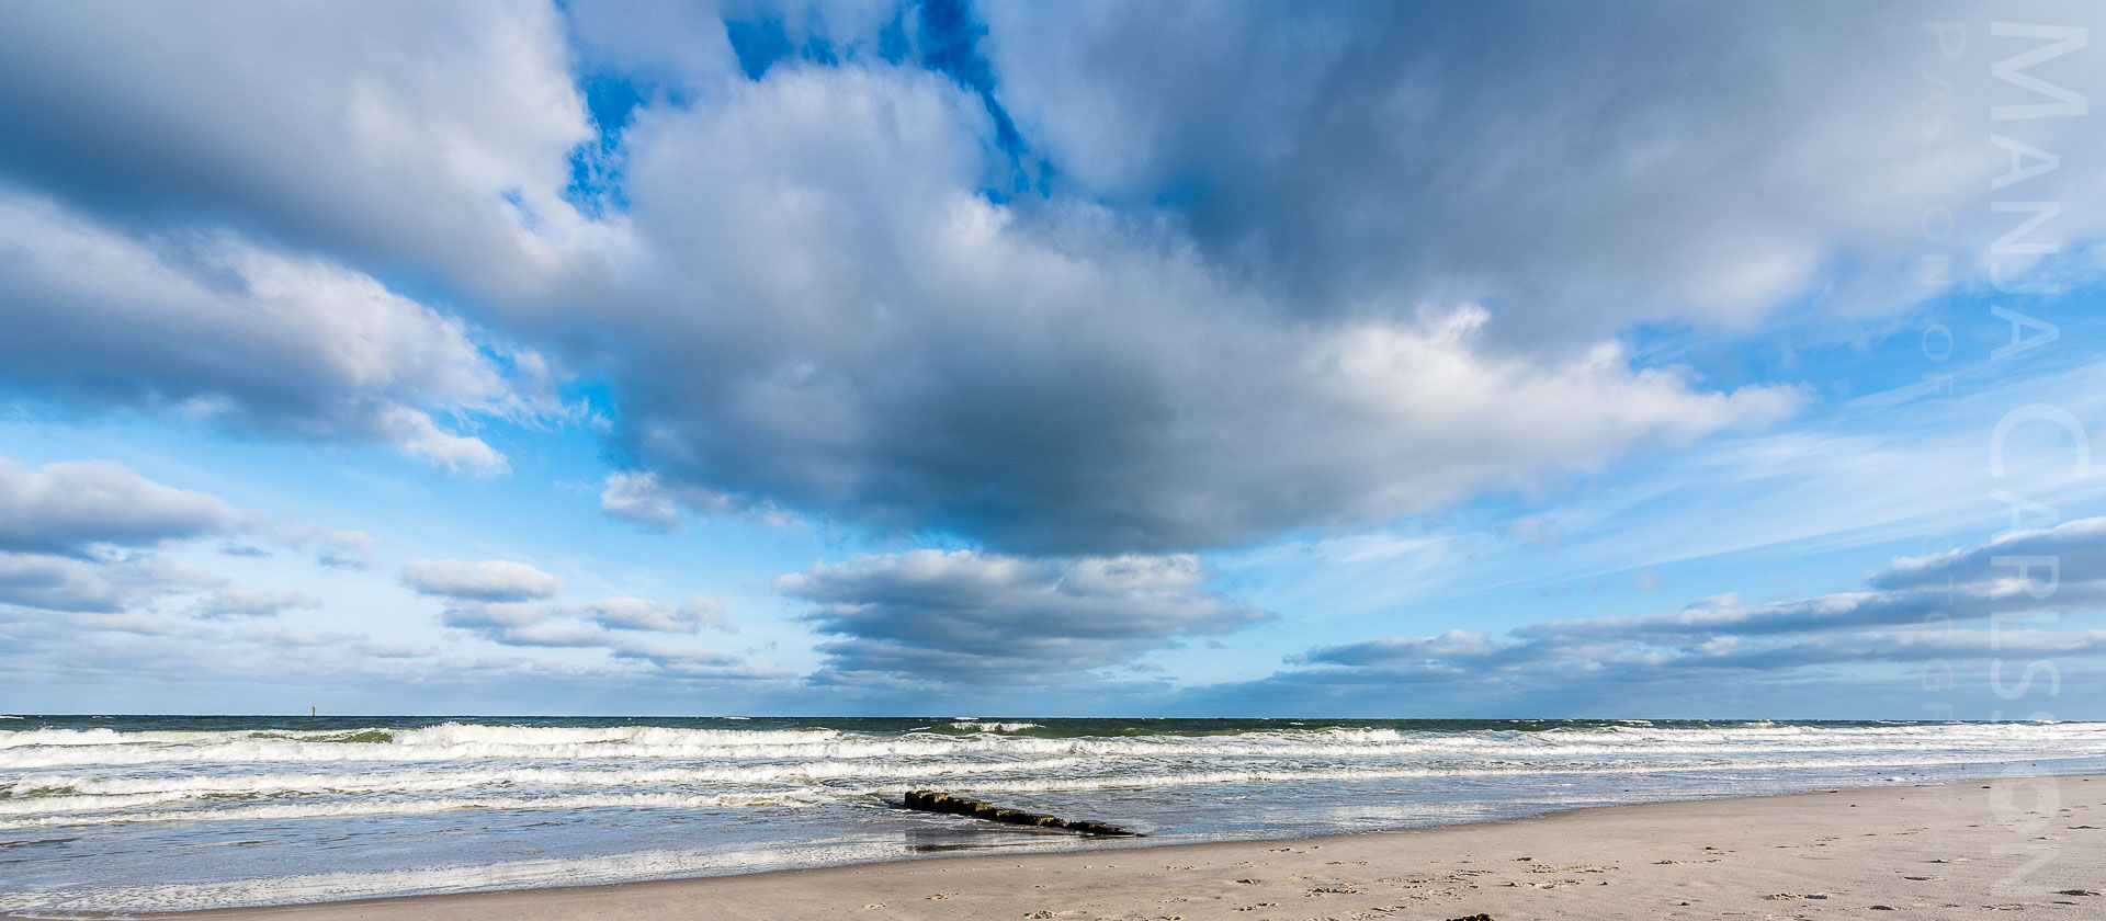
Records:
[[[88,555],[232,530],[227,503],[145,479],[107,461],[27,469],[0,458],[0,551]]]

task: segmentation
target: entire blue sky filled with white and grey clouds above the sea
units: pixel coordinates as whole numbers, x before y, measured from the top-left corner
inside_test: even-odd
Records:
[[[2098,27],[0,0],[0,709],[2106,719]]]

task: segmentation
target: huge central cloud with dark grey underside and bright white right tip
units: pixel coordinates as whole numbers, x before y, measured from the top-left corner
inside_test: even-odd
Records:
[[[1379,524],[1799,402],[1613,343],[1502,353],[1472,303],[1283,320],[1156,223],[986,200],[984,122],[956,84],[876,67],[638,116],[632,219],[682,275],[602,322],[628,357],[617,435],[657,486],[994,549],[1175,551]]]

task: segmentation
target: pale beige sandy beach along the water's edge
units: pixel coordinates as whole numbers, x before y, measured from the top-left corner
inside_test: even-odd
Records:
[[[2102,892],[2106,776],[2064,776],[181,919],[2106,919]]]

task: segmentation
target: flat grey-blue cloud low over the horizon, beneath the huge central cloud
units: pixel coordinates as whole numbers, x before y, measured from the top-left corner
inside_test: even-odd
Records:
[[[1190,555],[910,551],[783,574],[775,589],[815,603],[807,620],[845,637],[819,646],[819,681],[1047,683],[1272,618],[1207,589],[1211,578]]]

